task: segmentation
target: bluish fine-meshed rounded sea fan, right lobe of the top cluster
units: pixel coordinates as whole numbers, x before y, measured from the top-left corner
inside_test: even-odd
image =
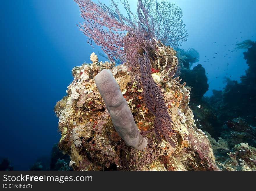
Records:
[[[145,15],[143,17],[142,13]],[[182,10],[168,1],[138,0],[138,15],[150,37],[165,45],[177,48],[188,39],[185,24],[182,22]],[[143,19],[145,18],[145,19]]]

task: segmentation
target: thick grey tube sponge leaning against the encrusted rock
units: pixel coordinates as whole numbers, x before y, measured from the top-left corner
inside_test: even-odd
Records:
[[[109,69],[95,76],[95,83],[110,113],[115,130],[128,146],[135,149],[147,147],[147,138],[139,132],[127,101]]]

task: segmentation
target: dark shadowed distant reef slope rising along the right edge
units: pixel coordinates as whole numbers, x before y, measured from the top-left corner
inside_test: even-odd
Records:
[[[227,79],[223,91],[214,90],[208,103],[217,112],[219,121],[227,121],[241,117],[252,125],[256,125],[256,42],[250,42],[250,47],[244,54],[248,65],[246,75],[241,76],[241,83]]]

